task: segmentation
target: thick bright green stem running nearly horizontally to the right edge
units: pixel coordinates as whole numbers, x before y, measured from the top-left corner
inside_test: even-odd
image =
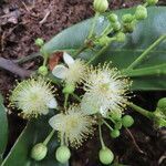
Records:
[[[149,66],[149,68],[137,69],[137,70],[124,70],[122,71],[122,74],[129,77],[166,75],[166,63],[160,65]]]

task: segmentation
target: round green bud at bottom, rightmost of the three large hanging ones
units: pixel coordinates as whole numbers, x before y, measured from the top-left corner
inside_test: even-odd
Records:
[[[102,149],[100,151],[98,156],[100,156],[101,163],[104,164],[104,165],[111,164],[111,163],[113,162],[113,159],[114,159],[114,154],[113,154],[112,151],[111,151],[110,148],[107,148],[107,147],[102,148]]]

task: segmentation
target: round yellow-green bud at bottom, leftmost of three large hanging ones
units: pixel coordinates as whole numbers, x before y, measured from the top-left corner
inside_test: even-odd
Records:
[[[48,147],[43,143],[39,143],[33,146],[31,151],[31,157],[35,160],[42,160],[48,153]]]

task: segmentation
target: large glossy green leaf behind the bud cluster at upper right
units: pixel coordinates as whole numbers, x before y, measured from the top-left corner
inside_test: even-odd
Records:
[[[116,13],[122,15],[124,13],[134,13],[135,8],[117,10]],[[100,19],[96,25],[96,33],[100,33],[107,24],[107,20],[103,22]],[[44,49],[52,53],[56,50],[79,49],[86,39],[92,19],[83,21],[72,28],[69,28],[52,40],[50,40]],[[101,55],[94,64],[98,62],[113,62],[113,65],[120,70],[126,69],[146,48],[155,42],[160,35],[166,33],[166,7],[148,8],[148,18],[138,23],[135,31],[127,35],[125,43],[111,44],[107,51]],[[143,69],[146,66],[154,66],[166,63],[166,42],[160,43],[154,49],[149,56],[138,66]],[[86,51],[82,58],[89,60],[93,55],[92,52]],[[166,76],[134,76],[132,89],[135,90],[166,90]]]

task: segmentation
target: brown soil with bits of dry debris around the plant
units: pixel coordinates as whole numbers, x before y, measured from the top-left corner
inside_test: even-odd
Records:
[[[34,45],[37,38],[45,41],[72,24],[93,15],[93,0],[6,0],[0,1],[0,56],[6,59],[20,59],[38,51]],[[141,0],[112,0],[110,8],[128,8],[141,3]],[[166,2],[159,1],[160,4]],[[45,18],[45,15],[48,15]],[[45,19],[44,19],[45,18]],[[39,63],[39,62],[38,62]],[[35,68],[35,62],[27,63],[24,69]],[[12,89],[15,75],[0,71],[0,91],[7,96]],[[152,96],[153,95],[153,96]],[[135,101],[146,103],[148,110],[155,108],[155,102],[164,96],[164,93],[138,93]],[[153,98],[151,101],[149,98]],[[155,102],[154,102],[155,101]],[[152,104],[154,103],[154,105]],[[131,111],[128,111],[131,113]],[[166,165],[166,133],[164,129],[154,129],[149,121],[132,113],[135,125],[131,128],[136,144],[127,131],[123,131],[120,138],[113,141],[104,131],[104,139],[117,156],[120,163],[131,166],[158,166]],[[18,123],[15,123],[18,122]],[[22,120],[15,115],[9,115],[9,125],[17,125],[18,132],[10,127],[9,147],[22,129]],[[97,134],[96,134],[97,135]],[[14,136],[14,137],[13,137]],[[74,151],[71,166],[98,166],[97,152],[100,142],[94,136],[87,141],[84,147]],[[165,159],[165,160],[164,160]]]

